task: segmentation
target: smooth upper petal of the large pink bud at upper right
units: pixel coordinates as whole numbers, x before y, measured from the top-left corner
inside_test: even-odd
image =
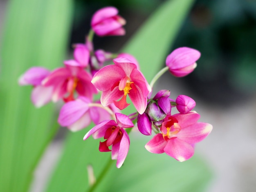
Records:
[[[200,52],[196,49],[180,47],[168,55],[166,58],[166,65],[169,69],[181,69],[183,67],[193,65],[200,56]]]

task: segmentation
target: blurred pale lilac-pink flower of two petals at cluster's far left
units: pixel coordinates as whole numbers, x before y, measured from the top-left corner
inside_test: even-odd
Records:
[[[42,107],[52,98],[53,87],[41,85],[42,80],[49,74],[50,71],[43,67],[31,67],[18,80],[20,85],[32,85],[34,87],[31,100],[36,107]]]

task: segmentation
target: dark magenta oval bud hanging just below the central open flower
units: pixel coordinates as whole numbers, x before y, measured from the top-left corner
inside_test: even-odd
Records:
[[[151,121],[146,113],[139,114],[137,118],[137,125],[139,131],[144,135],[151,135]]]

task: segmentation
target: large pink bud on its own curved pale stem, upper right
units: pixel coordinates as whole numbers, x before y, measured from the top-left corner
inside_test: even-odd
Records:
[[[198,50],[189,47],[180,47],[167,56],[166,66],[174,76],[183,77],[195,69],[195,62],[200,56],[201,54]]]

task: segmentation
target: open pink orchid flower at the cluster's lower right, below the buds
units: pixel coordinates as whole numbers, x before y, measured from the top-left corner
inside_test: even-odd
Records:
[[[166,153],[177,161],[186,161],[194,154],[194,144],[202,141],[212,130],[212,125],[197,122],[196,112],[167,115],[161,132],[156,134],[145,148],[151,153]]]

